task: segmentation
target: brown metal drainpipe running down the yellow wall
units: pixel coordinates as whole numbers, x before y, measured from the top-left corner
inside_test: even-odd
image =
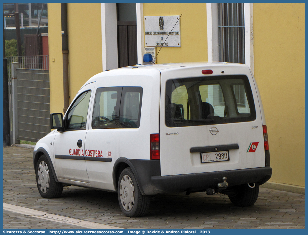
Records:
[[[68,86],[68,36],[67,36],[67,4],[61,3],[61,25],[62,25],[62,58],[63,58],[63,98],[66,112],[70,104],[70,93]]]

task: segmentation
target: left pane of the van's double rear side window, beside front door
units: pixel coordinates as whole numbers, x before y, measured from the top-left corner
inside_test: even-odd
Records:
[[[92,129],[119,128],[122,87],[98,88],[92,114]]]

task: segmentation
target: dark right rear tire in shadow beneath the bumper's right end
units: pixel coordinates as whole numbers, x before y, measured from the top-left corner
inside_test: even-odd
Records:
[[[250,188],[247,184],[239,185],[237,194],[229,196],[230,201],[236,206],[250,206],[253,205],[259,195],[259,185],[255,183],[254,188]]]

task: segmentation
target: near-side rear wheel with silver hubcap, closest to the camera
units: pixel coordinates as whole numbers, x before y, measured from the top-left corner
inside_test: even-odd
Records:
[[[128,217],[144,216],[150,206],[150,198],[142,195],[135,174],[130,167],[119,177],[118,199],[122,212]]]

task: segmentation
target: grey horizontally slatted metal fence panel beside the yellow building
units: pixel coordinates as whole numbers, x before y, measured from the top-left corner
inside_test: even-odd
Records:
[[[49,70],[17,69],[18,140],[37,142],[50,132]]]

